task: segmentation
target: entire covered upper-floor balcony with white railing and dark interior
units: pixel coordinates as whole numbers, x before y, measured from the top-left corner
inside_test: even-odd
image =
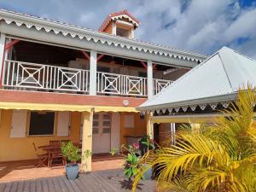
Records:
[[[7,38],[1,68],[5,90],[90,96],[154,96],[189,68]]]

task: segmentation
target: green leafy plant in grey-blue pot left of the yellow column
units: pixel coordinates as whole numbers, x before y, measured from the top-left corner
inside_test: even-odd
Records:
[[[77,163],[81,160],[79,154],[79,148],[74,146],[72,142],[61,143],[61,152],[67,160],[66,174],[69,180],[75,179],[79,175],[79,164]]]

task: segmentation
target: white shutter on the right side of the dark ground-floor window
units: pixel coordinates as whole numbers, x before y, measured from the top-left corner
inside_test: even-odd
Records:
[[[69,112],[58,112],[57,137],[69,136]]]

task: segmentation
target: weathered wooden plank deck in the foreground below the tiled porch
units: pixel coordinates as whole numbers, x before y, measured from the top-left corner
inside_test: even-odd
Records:
[[[153,192],[154,181],[142,181],[139,192]],[[69,181],[66,176],[45,177],[26,181],[0,183],[0,192],[123,192],[131,191],[131,185],[122,169],[80,174]]]

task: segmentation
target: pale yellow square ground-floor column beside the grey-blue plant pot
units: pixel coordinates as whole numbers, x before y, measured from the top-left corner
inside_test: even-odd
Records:
[[[92,152],[92,121],[93,121],[93,111],[82,113],[83,122],[83,136],[82,136],[82,162],[81,169],[82,172],[91,172],[91,155],[85,157],[84,152]]]

